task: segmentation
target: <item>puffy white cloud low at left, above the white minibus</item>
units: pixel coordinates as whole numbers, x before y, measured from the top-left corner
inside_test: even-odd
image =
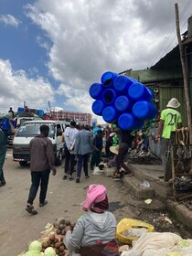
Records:
[[[54,91],[48,81],[39,77],[28,79],[24,70],[14,71],[9,60],[0,59],[0,112],[9,107],[16,111],[24,101],[33,109],[47,110],[48,101],[54,101]]]

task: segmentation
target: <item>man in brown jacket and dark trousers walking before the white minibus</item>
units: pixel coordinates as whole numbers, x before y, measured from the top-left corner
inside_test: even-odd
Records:
[[[35,210],[33,202],[37,196],[38,187],[40,186],[39,207],[44,207],[48,204],[46,195],[50,170],[52,170],[53,176],[55,176],[57,173],[53,144],[51,140],[48,139],[48,132],[48,125],[41,125],[40,135],[33,138],[29,144],[32,184],[29,190],[26,210],[32,215],[37,214],[37,210]]]

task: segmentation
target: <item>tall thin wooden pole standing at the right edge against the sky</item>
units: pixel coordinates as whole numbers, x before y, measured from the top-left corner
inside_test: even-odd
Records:
[[[186,68],[186,62],[185,62],[185,51],[184,51],[184,46],[183,46],[181,36],[180,36],[177,3],[175,4],[175,9],[176,9],[176,36],[177,36],[179,52],[180,52],[181,67],[182,67],[183,78],[184,78],[185,99],[186,99],[186,105],[187,105],[187,126],[189,129],[189,144],[192,145],[192,118],[191,118],[191,103],[190,103],[190,96],[189,96],[190,91],[189,91],[189,87],[188,87],[187,68]],[[189,147],[189,149],[190,149],[190,147]],[[191,159],[189,173],[192,174],[192,159]]]

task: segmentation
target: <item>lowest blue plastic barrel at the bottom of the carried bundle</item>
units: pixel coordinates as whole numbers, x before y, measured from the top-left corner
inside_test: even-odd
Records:
[[[139,120],[134,117],[132,113],[123,113],[118,118],[118,126],[122,130],[136,130],[141,129],[144,126],[144,120]]]

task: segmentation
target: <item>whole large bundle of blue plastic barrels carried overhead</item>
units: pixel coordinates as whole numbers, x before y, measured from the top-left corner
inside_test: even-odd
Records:
[[[154,119],[157,109],[152,103],[154,93],[137,80],[111,71],[93,83],[90,95],[95,101],[92,112],[101,115],[106,123],[118,122],[123,130],[141,129],[145,120]]]

